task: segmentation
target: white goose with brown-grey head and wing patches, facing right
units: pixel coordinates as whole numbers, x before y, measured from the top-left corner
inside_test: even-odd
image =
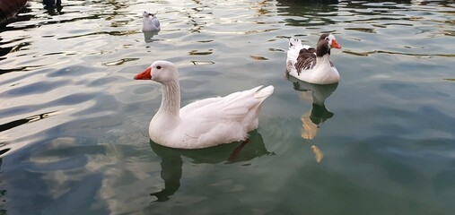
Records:
[[[337,68],[330,62],[330,48],[341,48],[335,36],[322,34],[316,48],[302,45],[299,39],[289,39],[286,71],[293,77],[316,84],[339,81]]]

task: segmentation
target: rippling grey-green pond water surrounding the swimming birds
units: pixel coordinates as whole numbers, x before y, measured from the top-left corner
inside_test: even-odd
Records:
[[[321,2],[31,1],[0,29],[0,213],[453,214],[455,4]],[[287,78],[322,32],[341,81]],[[182,105],[274,85],[249,143],[150,142],[158,59]]]

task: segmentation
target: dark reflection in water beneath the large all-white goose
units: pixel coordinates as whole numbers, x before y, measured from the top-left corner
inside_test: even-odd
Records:
[[[264,140],[257,130],[249,133],[247,142],[223,144],[201,150],[171,149],[152,141],[150,146],[162,159],[161,176],[164,181],[164,188],[161,191],[150,194],[156,198],[153,202],[165,202],[179,190],[183,168],[182,156],[192,159],[194,164],[216,164],[221,162],[232,164],[264,155],[274,155],[274,152],[267,151]]]

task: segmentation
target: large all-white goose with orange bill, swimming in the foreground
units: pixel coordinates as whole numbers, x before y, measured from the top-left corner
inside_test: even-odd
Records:
[[[135,79],[162,83],[162,104],[150,122],[149,135],[155,143],[178,149],[247,140],[248,132],[258,128],[262,102],[274,91],[273,86],[259,86],[198,100],[180,109],[179,73],[174,64],[155,61]]]

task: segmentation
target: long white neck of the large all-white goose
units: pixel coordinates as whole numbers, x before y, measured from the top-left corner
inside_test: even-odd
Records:
[[[159,114],[179,117],[180,111],[180,87],[179,81],[162,83],[162,105],[158,109]]]

